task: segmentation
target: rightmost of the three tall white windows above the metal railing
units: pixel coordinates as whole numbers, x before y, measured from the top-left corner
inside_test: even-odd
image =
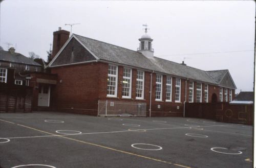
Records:
[[[136,99],[144,99],[144,71],[137,70]]]

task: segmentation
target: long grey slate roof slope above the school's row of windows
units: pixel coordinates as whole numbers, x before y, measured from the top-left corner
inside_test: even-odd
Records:
[[[76,34],[73,34],[73,36],[80,43],[86,46],[87,49],[90,50],[90,52],[93,53],[95,58],[99,61],[103,60],[142,69],[154,70],[156,73],[169,74],[211,84],[219,84],[228,71],[204,71],[158,57],[147,58],[139,52],[88,37],[83,37]],[[50,67],[52,66],[53,62],[54,60],[50,63]]]

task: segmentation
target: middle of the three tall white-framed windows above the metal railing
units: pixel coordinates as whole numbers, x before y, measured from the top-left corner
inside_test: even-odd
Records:
[[[123,68],[123,90],[122,90],[122,98],[131,98],[132,94],[132,69]]]

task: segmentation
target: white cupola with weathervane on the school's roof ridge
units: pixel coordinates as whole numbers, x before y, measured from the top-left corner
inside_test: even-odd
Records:
[[[137,52],[142,53],[144,56],[153,58],[154,57],[154,49],[152,49],[152,41],[153,39],[146,34],[147,33],[147,25],[145,26],[145,34],[141,36],[139,39],[140,41],[140,47],[137,49]]]

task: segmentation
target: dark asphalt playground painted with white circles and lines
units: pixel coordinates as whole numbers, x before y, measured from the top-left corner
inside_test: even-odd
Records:
[[[199,118],[0,113],[0,166],[252,167],[252,129]]]

